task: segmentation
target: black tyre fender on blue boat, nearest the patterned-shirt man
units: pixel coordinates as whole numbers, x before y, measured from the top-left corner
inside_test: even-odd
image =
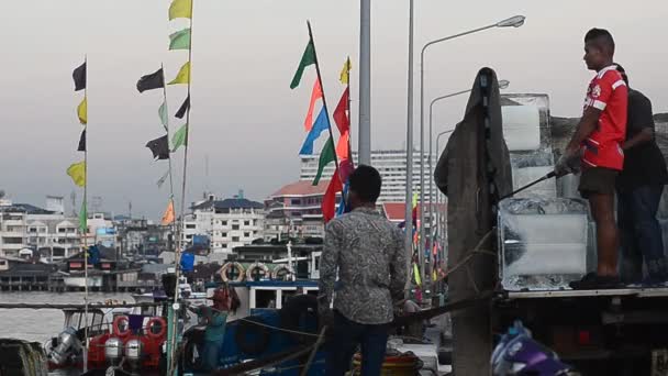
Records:
[[[318,298],[312,295],[294,296],[283,305],[279,312],[280,327],[292,331],[288,333],[300,344],[311,343],[314,336],[296,332],[318,334]]]

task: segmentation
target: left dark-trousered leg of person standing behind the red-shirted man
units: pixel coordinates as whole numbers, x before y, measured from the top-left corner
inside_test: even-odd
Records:
[[[635,234],[633,191],[617,192],[617,225],[622,244],[620,277],[625,284],[643,279],[643,255]]]

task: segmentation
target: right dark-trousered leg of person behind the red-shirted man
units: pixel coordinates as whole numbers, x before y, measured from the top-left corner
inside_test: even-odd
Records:
[[[634,230],[649,278],[654,281],[666,280],[667,274],[661,226],[656,219],[663,190],[663,186],[644,186],[633,191]]]

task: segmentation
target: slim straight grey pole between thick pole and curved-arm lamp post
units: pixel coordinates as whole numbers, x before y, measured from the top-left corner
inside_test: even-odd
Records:
[[[405,132],[405,252],[410,276],[413,253],[413,1],[409,0],[409,77],[408,77],[408,111]],[[410,280],[411,278],[409,278]],[[409,283],[410,284],[410,283]]]

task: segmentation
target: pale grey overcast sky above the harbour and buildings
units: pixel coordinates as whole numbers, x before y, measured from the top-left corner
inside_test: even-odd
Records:
[[[427,102],[469,88],[477,70],[490,66],[511,81],[509,92],[548,93],[553,114],[576,117],[591,77],[582,62],[582,36],[599,26],[613,33],[616,59],[632,86],[654,101],[656,112],[668,110],[665,0],[415,2],[416,92],[424,43],[514,14],[527,18],[520,29],[489,30],[431,48],[425,62]],[[168,22],[168,0],[4,4],[0,189],[11,199],[42,206],[46,195],[69,198],[76,190],[80,200],[81,189],[65,169],[82,157],[75,152],[81,130],[76,106],[82,92],[74,91],[71,70],[87,54],[90,196],[101,197],[102,209],[116,214],[126,213],[132,201],[133,214],[159,218],[168,185],[158,190],[155,183],[167,163],[154,162],[144,145],[163,134],[157,118],[162,93],[140,95],[135,85],[162,62],[171,79],[187,60],[187,52],[167,51],[169,33],[187,24]],[[193,13],[188,201],[207,188],[221,197],[244,189],[248,198],[261,201],[298,179],[297,153],[305,136],[302,124],[314,70],[307,71],[296,90],[289,82],[308,41],[307,19],[314,29],[332,107],[343,91],[337,81],[342,64],[346,55],[353,59],[356,147],[357,0],[194,0]],[[372,0],[371,20],[372,148],[400,148],[407,122],[408,1]],[[170,86],[168,91],[172,114],[186,87]],[[452,128],[465,101],[442,102],[436,130]],[[178,172],[181,159],[182,151],[175,155]],[[180,183],[180,173],[176,176]]]

